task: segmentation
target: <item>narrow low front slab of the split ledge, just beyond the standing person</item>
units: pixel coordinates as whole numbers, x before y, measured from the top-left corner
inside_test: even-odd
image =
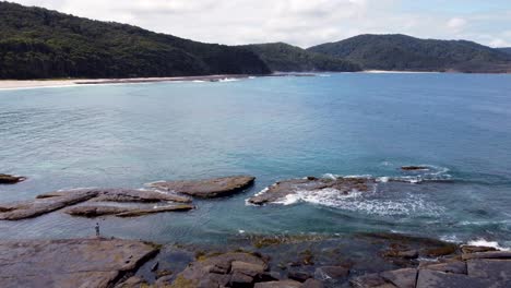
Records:
[[[139,208],[139,207],[121,207],[121,206],[105,206],[105,205],[96,205],[96,206],[76,206],[71,207],[64,211],[64,213],[72,215],[72,216],[81,216],[81,217],[98,217],[104,215],[115,215],[117,217],[136,217],[143,216],[148,214],[156,214],[163,212],[185,212],[193,209],[194,206],[189,204],[181,204],[181,205],[168,205],[168,206],[159,206],[154,208]]]

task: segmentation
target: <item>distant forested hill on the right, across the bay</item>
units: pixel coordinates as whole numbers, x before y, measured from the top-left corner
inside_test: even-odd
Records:
[[[406,35],[360,35],[309,51],[340,57],[364,69],[511,72],[503,51],[466,40],[418,39]]]

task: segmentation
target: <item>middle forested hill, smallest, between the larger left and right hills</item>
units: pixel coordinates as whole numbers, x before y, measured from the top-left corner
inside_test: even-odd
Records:
[[[307,51],[285,43],[241,46],[255,52],[272,71],[360,71],[358,64],[326,55]]]

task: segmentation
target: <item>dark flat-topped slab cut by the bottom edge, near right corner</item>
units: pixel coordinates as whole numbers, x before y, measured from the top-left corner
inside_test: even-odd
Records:
[[[500,288],[502,284],[488,279],[474,278],[463,274],[442,273],[438,271],[421,269],[417,278],[417,288]]]

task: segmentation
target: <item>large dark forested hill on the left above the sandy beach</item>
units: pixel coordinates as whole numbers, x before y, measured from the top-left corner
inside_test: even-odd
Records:
[[[243,48],[0,2],[0,79],[264,73]]]

